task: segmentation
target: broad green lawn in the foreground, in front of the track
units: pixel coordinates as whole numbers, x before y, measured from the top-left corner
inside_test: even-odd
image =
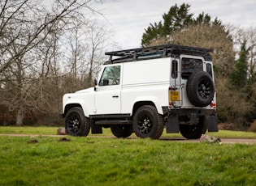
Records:
[[[0,136],[0,185],[256,185],[256,144]]]

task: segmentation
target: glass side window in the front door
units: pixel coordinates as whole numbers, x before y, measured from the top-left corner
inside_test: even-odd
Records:
[[[100,79],[99,86],[119,85],[120,83],[120,70],[121,66],[106,66],[102,78]]]

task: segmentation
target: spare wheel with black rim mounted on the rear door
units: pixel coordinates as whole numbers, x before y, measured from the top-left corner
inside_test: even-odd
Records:
[[[206,107],[215,95],[215,86],[210,74],[197,71],[189,76],[187,82],[187,95],[195,107]]]

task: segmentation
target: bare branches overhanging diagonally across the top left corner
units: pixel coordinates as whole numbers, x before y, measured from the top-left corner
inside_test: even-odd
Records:
[[[27,53],[37,44],[40,44],[56,28],[56,25],[59,25],[59,29],[64,27],[80,13],[79,9],[84,8],[93,11],[89,7],[89,2],[92,2],[92,0],[56,0],[53,3],[52,11],[44,8],[40,2],[6,0],[1,3],[0,19],[2,23],[0,25],[0,36],[2,55],[0,73],[6,70],[20,55]],[[15,33],[10,37],[8,35],[12,30],[15,30]],[[27,32],[25,36],[21,34],[24,31]],[[20,47],[15,56],[4,55],[4,53],[8,52],[8,47],[12,43],[20,40],[23,40],[22,47]]]

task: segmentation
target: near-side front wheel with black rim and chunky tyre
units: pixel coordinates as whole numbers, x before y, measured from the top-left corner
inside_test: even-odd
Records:
[[[71,108],[65,120],[66,133],[71,136],[87,136],[89,134],[89,118],[85,117],[82,108]]]

